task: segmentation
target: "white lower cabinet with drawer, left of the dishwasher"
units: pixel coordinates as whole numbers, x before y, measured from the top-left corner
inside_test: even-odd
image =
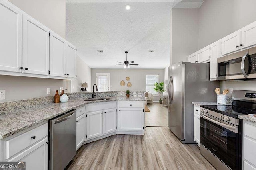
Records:
[[[48,169],[48,123],[1,139],[0,161],[26,162],[27,170]]]

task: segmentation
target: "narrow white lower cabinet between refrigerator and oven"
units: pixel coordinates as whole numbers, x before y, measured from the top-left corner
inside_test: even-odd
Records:
[[[194,141],[200,145],[200,106],[194,105]]]

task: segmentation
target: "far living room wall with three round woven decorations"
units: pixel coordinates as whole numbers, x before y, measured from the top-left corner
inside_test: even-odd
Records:
[[[146,91],[147,74],[158,74],[159,82],[164,81],[164,69],[92,69],[91,73],[91,87],[96,84],[96,73],[110,73],[110,91]],[[130,77],[130,81],[126,81],[126,77]],[[121,80],[126,82],[126,86],[119,84]],[[132,87],[128,88],[127,82],[131,82]],[[159,96],[154,96],[153,100],[158,101]]]

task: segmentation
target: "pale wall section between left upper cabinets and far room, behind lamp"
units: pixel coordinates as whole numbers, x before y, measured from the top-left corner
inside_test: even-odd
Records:
[[[76,80],[70,81],[70,92],[80,92],[82,83],[87,83],[88,87],[86,90],[90,92],[91,90],[91,68],[84,63],[84,61],[77,56],[76,57]]]

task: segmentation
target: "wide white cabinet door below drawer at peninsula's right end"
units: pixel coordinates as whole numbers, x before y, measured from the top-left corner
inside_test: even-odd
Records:
[[[120,109],[118,130],[143,131],[143,109]]]

